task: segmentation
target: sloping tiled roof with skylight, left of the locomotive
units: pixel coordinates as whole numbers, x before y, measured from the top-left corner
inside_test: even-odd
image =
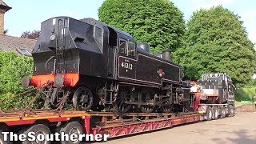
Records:
[[[26,49],[30,53],[37,41],[29,38],[18,38],[10,35],[0,34],[0,50],[10,52],[19,49]]]

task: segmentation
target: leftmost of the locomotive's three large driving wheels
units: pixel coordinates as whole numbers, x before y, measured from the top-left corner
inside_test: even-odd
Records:
[[[130,90],[118,90],[118,97],[116,98],[115,102],[113,102],[114,109],[120,113],[126,113],[131,107],[131,105],[126,104],[126,102],[131,102],[132,99],[133,98]]]

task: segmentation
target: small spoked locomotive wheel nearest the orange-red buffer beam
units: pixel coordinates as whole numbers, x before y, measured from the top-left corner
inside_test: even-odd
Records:
[[[93,94],[86,87],[79,87],[73,96],[73,105],[78,110],[90,110],[93,106]]]

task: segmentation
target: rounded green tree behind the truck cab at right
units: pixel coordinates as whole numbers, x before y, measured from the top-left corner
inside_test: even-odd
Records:
[[[194,12],[187,23],[186,46],[174,52],[174,61],[184,66],[186,78],[226,73],[234,82],[250,81],[255,50],[239,18],[222,6]]]

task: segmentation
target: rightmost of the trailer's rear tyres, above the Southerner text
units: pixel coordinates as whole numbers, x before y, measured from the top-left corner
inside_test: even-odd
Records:
[[[79,122],[68,122],[66,125],[62,126],[60,129],[60,132],[63,132],[64,134],[83,134],[82,126]],[[70,143],[75,143],[79,144],[81,141],[77,138],[76,141],[74,142],[61,142],[62,144],[70,144]]]

